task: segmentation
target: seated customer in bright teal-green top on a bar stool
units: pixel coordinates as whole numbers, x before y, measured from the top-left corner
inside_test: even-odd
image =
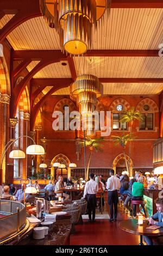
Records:
[[[143,185],[144,182],[145,182],[144,176],[140,176],[137,182],[134,182],[132,187],[132,192],[131,192],[131,200],[134,200],[134,201],[143,200],[143,191],[145,190]],[[133,215],[134,217],[136,217],[136,205],[133,205]],[[145,212],[145,215],[146,215],[146,212]]]

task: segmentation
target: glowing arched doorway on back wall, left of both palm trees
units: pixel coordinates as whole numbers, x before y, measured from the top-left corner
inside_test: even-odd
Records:
[[[58,162],[61,164],[65,164],[66,168],[55,168],[53,167],[53,163]],[[54,180],[58,179],[58,176],[62,176],[63,178],[67,178],[68,176],[71,176],[71,169],[68,167],[70,164],[70,160],[67,156],[63,154],[59,154],[55,156],[51,162],[51,174],[54,176]]]

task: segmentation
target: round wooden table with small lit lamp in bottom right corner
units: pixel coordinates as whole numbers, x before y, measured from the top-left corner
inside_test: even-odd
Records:
[[[137,220],[127,220],[127,221],[121,221],[119,223],[119,228],[121,228],[124,231],[127,231],[128,233],[140,235],[140,243],[139,245],[143,245],[142,236],[162,236],[163,235],[163,228],[159,228],[156,230],[147,229],[149,227],[148,221],[144,222],[142,225],[137,224]]]

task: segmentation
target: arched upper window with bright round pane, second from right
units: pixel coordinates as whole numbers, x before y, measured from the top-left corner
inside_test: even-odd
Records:
[[[111,103],[109,111],[112,116],[112,130],[127,130],[127,123],[120,122],[120,117],[123,115],[123,111],[127,111],[130,108],[129,103],[124,99],[117,99]]]

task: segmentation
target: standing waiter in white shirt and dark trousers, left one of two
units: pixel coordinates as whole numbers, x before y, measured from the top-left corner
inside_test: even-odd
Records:
[[[86,182],[84,188],[84,198],[87,200],[87,209],[89,211],[89,222],[95,222],[96,215],[96,193],[98,192],[98,183],[93,180],[95,175],[90,174],[90,180]]]

